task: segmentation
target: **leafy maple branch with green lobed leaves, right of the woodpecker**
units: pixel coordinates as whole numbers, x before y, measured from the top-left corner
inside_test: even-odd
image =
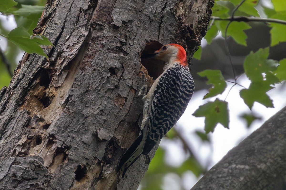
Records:
[[[244,30],[250,29],[251,26],[247,22],[262,22],[265,24],[269,23],[271,27],[271,46],[278,44],[279,42],[286,41],[286,35],[283,35],[286,29],[286,8],[280,5],[280,1],[273,1],[274,9],[265,8],[264,13],[268,18],[260,18],[258,11],[255,6],[259,1],[243,0],[223,0],[215,1],[213,7],[213,16],[208,26],[208,32],[206,33],[205,39],[208,43],[211,43],[212,39],[215,38],[219,32],[222,32],[225,38],[225,46],[227,54],[229,55],[229,62],[232,67],[234,82],[229,92],[237,83],[239,77],[236,76],[236,72],[233,66],[233,61],[229,52],[227,38],[231,36],[238,44],[247,46],[246,39],[247,35]],[[231,11],[229,7],[235,6]],[[236,15],[236,14],[242,15]],[[284,19],[284,20],[281,20]],[[229,22],[225,22],[229,21]],[[269,90],[273,89],[276,83],[280,83],[285,80],[285,68],[286,61],[281,60],[280,62],[268,59],[269,47],[259,49],[257,52],[250,52],[245,58],[243,67],[246,76],[251,81],[249,88],[242,89],[240,96],[244,100],[245,104],[252,109],[254,102],[259,102],[266,107],[273,107],[272,100],[266,94]],[[195,58],[199,57],[197,55]],[[219,71],[220,72],[220,71]],[[207,73],[207,74],[206,74]],[[204,96],[205,98],[214,97],[225,91],[226,85],[223,76],[218,77],[218,70],[205,70],[198,73],[200,76],[208,78],[208,84],[212,84],[209,93]],[[227,96],[229,94],[227,93]],[[223,113],[223,114],[222,114]],[[227,103],[223,100],[216,99],[214,102],[208,102],[200,106],[195,112],[196,117],[205,117],[205,131],[206,133],[214,130],[218,123],[223,124],[226,128],[229,127],[229,111]],[[245,115],[243,118],[247,118]],[[255,118],[254,118],[255,119]],[[254,120],[253,119],[253,120]],[[251,122],[253,121],[251,120]],[[248,123],[250,125],[251,123]]]

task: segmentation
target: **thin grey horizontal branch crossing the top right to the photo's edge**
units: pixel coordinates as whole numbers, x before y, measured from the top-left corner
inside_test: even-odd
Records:
[[[210,17],[211,20],[220,20],[220,21],[238,21],[238,22],[269,22],[269,23],[279,23],[286,24],[286,21],[279,19],[269,19],[269,18],[257,18],[257,17],[245,17],[245,16],[235,16],[235,17]]]

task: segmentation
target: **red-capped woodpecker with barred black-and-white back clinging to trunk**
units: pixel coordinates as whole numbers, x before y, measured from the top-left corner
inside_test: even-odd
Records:
[[[176,124],[194,92],[194,80],[188,68],[186,51],[182,46],[167,44],[154,54],[147,54],[141,58],[155,58],[164,61],[166,65],[163,73],[143,98],[145,103],[141,132],[119,164],[123,175],[141,154],[148,154]]]

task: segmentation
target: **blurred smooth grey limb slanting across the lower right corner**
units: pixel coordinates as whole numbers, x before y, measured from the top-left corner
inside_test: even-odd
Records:
[[[286,107],[229,151],[191,190],[285,190]]]

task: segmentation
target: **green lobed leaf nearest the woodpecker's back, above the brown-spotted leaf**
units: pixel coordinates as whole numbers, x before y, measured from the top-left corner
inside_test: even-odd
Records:
[[[209,89],[209,92],[204,96],[204,99],[214,97],[225,91],[227,83],[225,82],[223,74],[220,70],[204,70],[198,72],[198,75],[200,75],[201,77],[207,77],[208,81],[206,83],[213,85],[213,87]]]

